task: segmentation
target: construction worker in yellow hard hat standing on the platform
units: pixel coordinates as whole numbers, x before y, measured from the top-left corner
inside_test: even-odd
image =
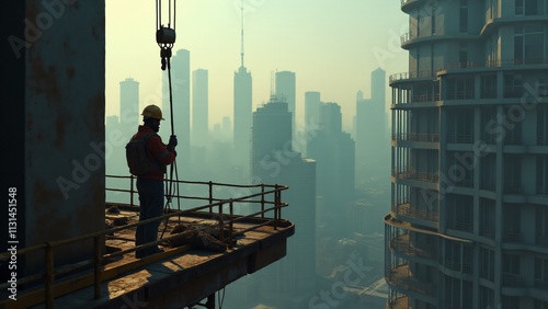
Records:
[[[167,170],[165,165],[171,164],[175,160],[175,146],[178,144],[174,135],[170,137],[169,144],[165,145],[157,134],[160,129],[160,122],[163,121],[160,107],[148,105],[142,110],[141,115],[144,125],[139,126],[132,140],[146,138],[145,149],[147,158],[152,163],[152,168],[149,169],[150,172],[137,175],[137,191],[139,193],[140,206],[139,221],[163,214],[163,178]],[[159,220],[138,226],[135,232],[135,245],[156,241],[158,239],[159,226]],[[156,245],[137,250],[135,256],[140,259],[158,252],[162,252],[162,250]]]

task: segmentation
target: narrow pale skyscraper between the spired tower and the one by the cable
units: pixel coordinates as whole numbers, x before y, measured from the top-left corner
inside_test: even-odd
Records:
[[[192,140],[193,146],[207,146],[208,125],[208,73],[197,69],[192,72]]]

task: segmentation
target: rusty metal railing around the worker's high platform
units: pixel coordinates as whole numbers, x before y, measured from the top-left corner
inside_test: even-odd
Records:
[[[105,191],[111,191],[111,192],[122,192],[122,193],[128,193],[129,194],[129,203],[133,205],[134,198],[133,195],[136,194],[137,192],[134,190],[134,176],[118,176],[118,175],[106,175],[105,178],[111,178],[111,179],[128,179],[130,181],[129,184],[129,190],[125,188],[105,188]],[[267,185],[267,184],[254,184],[254,185],[236,185],[236,184],[226,184],[226,183],[214,183],[214,182],[191,182],[191,181],[176,181],[176,184],[193,184],[193,185],[206,185],[208,186],[208,196],[179,196],[175,195],[173,197],[175,198],[186,198],[186,199],[201,199],[201,201],[207,201],[208,204],[198,206],[198,207],[193,207],[190,209],[185,210],[172,210],[169,211],[168,214],[142,220],[139,222],[135,224],[128,224],[115,228],[110,228],[105,229],[102,231],[96,231],[70,239],[65,239],[65,240],[59,240],[59,241],[48,241],[38,245],[30,247],[30,248],[23,248],[21,250],[18,250],[18,255],[34,255],[34,256],[44,256],[44,270],[38,271],[37,273],[34,274],[28,274],[25,275],[24,277],[18,278],[18,285],[23,286],[23,285],[28,285],[28,284],[34,284],[36,287],[34,287],[32,290],[28,290],[28,294],[34,294],[36,297],[39,297],[39,295],[36,295],[36,290],[41,290],[41,287],[44,289],[43,293],[43,299],[44,301],[41,300],[35,300],[36,304],[45,302],[46,308],[53,308],[54,307],[54,287],[55,287],[55,279],[56,277],[59,277],[62,275],[67,274],[73,274],[77,271],[87,271],[89,274],[90,267],[93,268],[92,272],[92,283],[90,283],[88,286],[93,285],[93,293],[94,293],[94,298],[98,299],[101,297],[101,282],[105,281],[104,278],[104,262],[107,260],[111,260],[112,258],[116,256],[122,256],[126,253],[134,252],[136,250],[141,250],[146,249],[152,245],[157,245],[158,243],[165,243],[168,241],[172,240],[178,240],[181,239],[189,233],[193,233],[196,230],[191,230],[182,233],[178,233],[175,236],[170,236],[167,238],[162,238],[160,240],[157,240],[155,242],[149,242],[145,243],[137,247],[132,247],[129,249],[121,250],[117,252],[113,253],[106,253],[103,254],[103,248],[104,248],[104,239],[107,236],[112,236],[116,232],[119,232],[122,230],[135,228],[140,225],[146,225],[149,222],[158,221],[158,220],[168,220],[169,218],[172,217],[184,217],[184,216],[190,216],[192,214],[209,214],[207,218],[209,218],[213,221],[217,221],[215,225],[218,229],[218,236],[221,242],[225,241],[225,232],[228,230],[228,245],[229,248],[233,245],[232,240],[233,237],[238,234],[243,234],[244,232],[248,232],[250,230],[258,229],[263,226],[271,225],[274,227],[274,229],[278,228],[278,225],[281,225],[282,220],[282,208],[286,207],[288,204],[282,202],[282,191],[287,190],[288,187],[286,185]],[[216,187],[240,187],[240,188],[254,188],[256,191],[260,190],[260,192],[254,193],[254,194],[249,194],[246,196],[237,197],[237,198],[217,198],[213,195],[213,192],[215,191]],[[269,197],[269,198],[265,198]],[[253,214],[249,215],[237,215],[235,213],[235,203],[250,203],[250,204],[259,204],[260,209]],[[228,206],[228,207],[227,207]],[[228,209],[225,209],[228,208]],[[272,213],[273,218],[265,218],[265,214]],[[246,221],[249,218],[262,218],[261,220],[254,220],[254,222],[249,222],[250,220]],[[246,221],[247,228],[246,229],[239,229],[238,232],[235,231],[233,225],[239,222],[239,221]],[[253,220],[251,220],[253,221]],[[207,225],[203,228],[198,228],[197,230],[212,230],[212,228],[215,228],[215,226]],[[55,263],[55,254],[54,252],[58,250],[61,247],[69,245],[69,244],[75,244],[75,243],[81,243],[84,241],[92,241],[93,242],[93,256],[89,260],[80,261],[78,263],[73,264],[67,264],[67,265],[60,265],[57,267],[54,267],[56,265]],[[41,253],[42,251],[42,253]],[[0,259],[9,259],[10,258],[10,252],[3,252],[0,254]],[[42,255],[41,255],[42,254]],[[20,258],[22,259],[22,258]],[[112,271],[112,270],[109,270]],[[9,287],[8,284],[2,284],[0,285],[0,288],[5,289]],[[18,298],[24,297],[25,291],[20,293],[18,295]]]

